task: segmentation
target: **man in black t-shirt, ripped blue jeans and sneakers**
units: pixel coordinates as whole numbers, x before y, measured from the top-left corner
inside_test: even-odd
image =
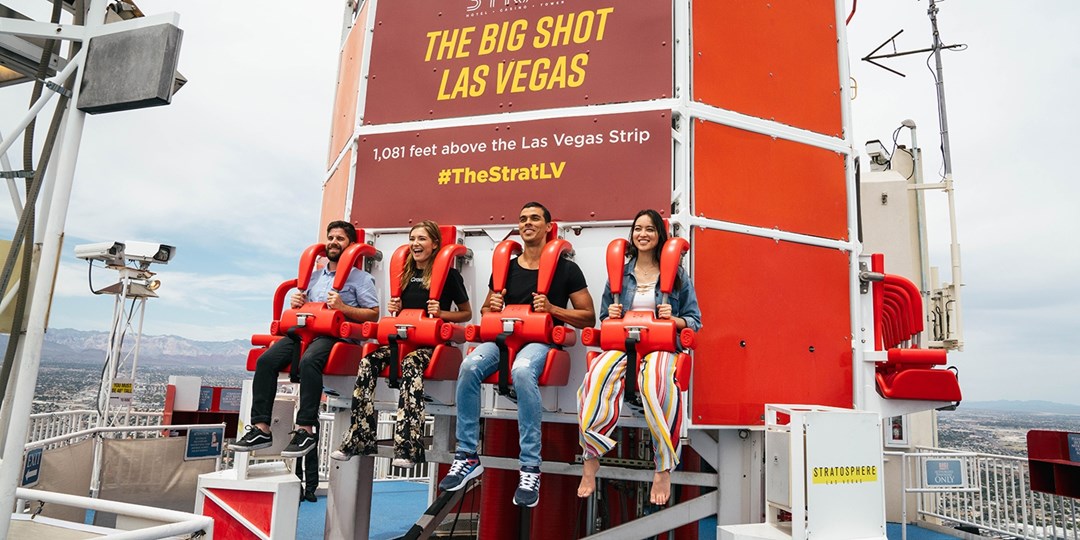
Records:
[[[522,254],[510,262],[504,291],[492,291],[488,281],[487,298],[482,312],[502,311],[511,303],[528,303],[534,311],[551,313],[556,323],[578,328],[596,322],[593,297],[585,286],[585,276],[578,265],[561,259],[555,267],[548,295],[537,293],[540,254],[548,232],[551,231],[551,213],[542,204],[527,203],[518,215],[517,230],[522,235]],[[570,308],[566,308],[567,302]],[[517,394],[517,430],[522,454],[522,470],[514,494],[514,504],[535,507],[540,497],[540,420],[542,404],[537,379],[543,372],[544,359],[552,346],[528,343],[517,352],[511,376]],[[458,446],[449,474],[438,484],[448,491],[461,489],[484,472],[476,455],[480,436],[480,389],[485,378],[499,367],[497,345],[481,343],[461,363],[458,376]]]

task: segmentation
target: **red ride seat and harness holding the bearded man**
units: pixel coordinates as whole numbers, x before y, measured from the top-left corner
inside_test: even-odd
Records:
[[[363,238],[362,231],[356,231]],[[309,246],[300,255],[300,267],[297,278],[288,280],[278,286],[273,297],[273,321],[270,323],[270,334],[256,334],[252,336],[252,345],[255,346],[247,352],[247,370],[254,372],[255,364],[266,350],[282,338],[291,338],[300,343],[299,352],[294,355],[293,366],[287,366],[289,379],[297,382],[298,373],[295,364],[299,362],[308,345],[319,336],[340,337],[341,328],[350,323],[345,315],[335,309],[326,307],[326,302],[309,301],[297,309],[282,311],[285,305],[285,296],[293,288],[306,292],[311,283],[311,272],[315,268],[315,260],[326,253],[325,244],[314,244]],[[332,287],[340,291],[345,286],[346,280],[353,268],[364,266],[364,257],[373,257],[376,249],[362,241],[353,242],[338,259],[337,273],[334,275]],[[323,373],[326,375],[351,375],[356,374],[360,366],[361,346],[338,342],[330,350],[330,355],[326,361]]]

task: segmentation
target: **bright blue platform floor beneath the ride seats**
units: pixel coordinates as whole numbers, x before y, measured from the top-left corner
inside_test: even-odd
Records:
[[[408,481],[381,481],[373,486],[370,540],[390,540],[404,535],[428,508],[428,485]],[[326,498],[318,502],[300,505],[300,517],[296,525],[296,538],[323,538],[326,519]],[[900,524],[887,524],[889,540],[901,540]],[[955,540],[958,537],[943,535],[929,529],[907,526],[907,540]],[[716,517],[706,517],[699,523],[699,540],[716,539]]]

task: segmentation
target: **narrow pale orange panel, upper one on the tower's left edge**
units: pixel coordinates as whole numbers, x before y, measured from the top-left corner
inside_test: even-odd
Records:
[[[341,149],[352,140],[352,131],[356,125],[360,63],[364,57],[364,24],[369,3],[364,2],[356,15],[356,24],[349,31],[338,60],[338,86],[334,97],[334,116],[330,119],[330,154],[326,158],[326,166],[330,166]]]

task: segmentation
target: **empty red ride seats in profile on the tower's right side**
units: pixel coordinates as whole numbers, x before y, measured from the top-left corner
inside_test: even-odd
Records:
[[[885,257],[870,256],[870,269],[885,278],[874,283],[874,348],[886,351],[876,368],[878,392],[892,400],[959,402],[960,383],[945,365],[944,349],[921,349],[922,296],[910,280],[883,273]]]

